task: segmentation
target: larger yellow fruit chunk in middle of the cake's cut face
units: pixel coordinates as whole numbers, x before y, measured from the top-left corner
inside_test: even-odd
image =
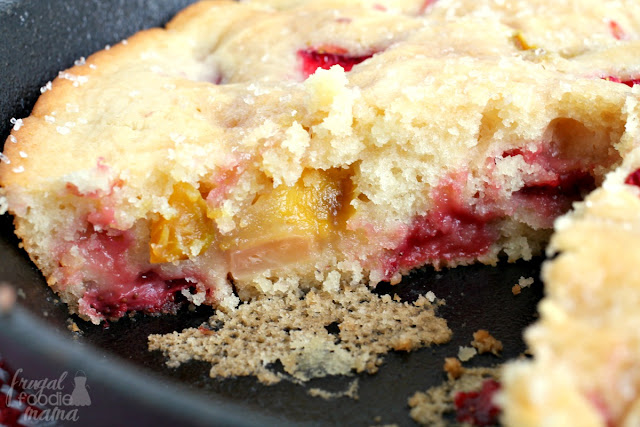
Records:
[[[307,170],[292,186],[258,196],[222,242],[235,275],[307,259],[352,214],[348,170]]]

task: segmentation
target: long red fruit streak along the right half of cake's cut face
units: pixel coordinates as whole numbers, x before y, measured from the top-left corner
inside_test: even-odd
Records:
[[[524,214],[524,221],[532,226],[551,228],[555,218],[595,188],[591,165],[556,152],[550,144],[535,150],[510,150],[501,157],[513,156],[522,156],[526,164],[537,168],[524,176],[522,188],[507,199],[487,186],[485,197],[465,201],[462,183],[466,176],[444,180],[433,190],[433,206],[414,218],[405,238],[385,261],[385,279],[427,263],[466,261],[486,254],[500,237],[495,224],[514,212]]]

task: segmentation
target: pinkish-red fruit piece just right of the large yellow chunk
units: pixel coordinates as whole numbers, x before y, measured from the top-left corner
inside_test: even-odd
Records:
[[[470,259],[486,253],[499,237],[491,226],[498,215],[480,213],[462,202],[459,183],[446,183],[433,192],[433,206],[416,217],[403,242],[386,262],[385,278],[428,262]]]

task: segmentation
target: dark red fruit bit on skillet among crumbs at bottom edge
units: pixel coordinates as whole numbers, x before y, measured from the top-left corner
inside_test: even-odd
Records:
[[[488,379],[479,391],[459,392],[454,397],[456,421],[474,426],[498,424],[500,408],[493,403],[493,397],[500,390],[500,383]]]

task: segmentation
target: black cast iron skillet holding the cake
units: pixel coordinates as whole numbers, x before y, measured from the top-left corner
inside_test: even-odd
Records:
[[[39,88],[57,72],[130,36],[165,23],[188,0],[0,0],[0,141],[11,117],[25,117]],[[56,153],[51,153],[55,161]],[[542,295],[540,260],[498,267],[424,269],[401,285],[380,286],[411,300],[429,290],[447,304],[439,309],[454,332],[450,343],[414,353],[391,353],[376,375],[359,376],[359,400],[324,401],[301,386],[266,387],[252,378],[214,380],[204,363],[178,369],[161,354],[146,351],[150,333],[198,326],[211,309],[182,310],[177,316],[123,319],[108,329],[74,320],[83,331],[73,338],[66,307],[56,302],[40,273],[18,248],[8,215],[0,217],[0,281],[13,283],[24,297],[0,316],[0,354],[28,378],[58,378],[77,371],[87,378],[91,405],[69,425],[412,425],[407,398],[445,379],[443,359],[469,345],[472,333],[488,329],[504,343],[502,358],[477,356],[468,366],[490,366],[517,357],[525,347],[522,329],[531,323]],[[514,296],[521,276],[536,278]],[[277,368],[277,367],[276,367]],[[313,387],[339,391],[353,378],[328,378]],[[380,417],[380,418],[377,418]]]

